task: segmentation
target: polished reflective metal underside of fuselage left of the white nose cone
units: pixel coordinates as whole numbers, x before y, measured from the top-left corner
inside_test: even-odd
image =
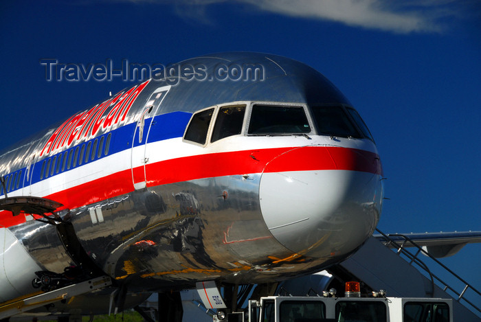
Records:
[[[157,288],[234,274],[271,280],[284,269],[272,262],[293,253],[265,225],[259,178],[223,176],[137,190],[94,205],[94,219],[92,206],[71,219],[89,256],[119,281]]]

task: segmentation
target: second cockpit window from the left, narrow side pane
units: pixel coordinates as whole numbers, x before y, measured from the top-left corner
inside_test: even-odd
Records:
[[[224,106],[219,109],[214,130],[212,130],[211,142],[239,135],[242,132],[244,122],[245,105]]]

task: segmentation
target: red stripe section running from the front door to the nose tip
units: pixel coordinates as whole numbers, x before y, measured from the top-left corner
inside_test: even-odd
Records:
[[[269,166],[266,168],[267,163]],[[324,146],[202,154],[146,164],[148,187],[263,171],[309,170],[352,170],[382,174],[379,156],[373,152]]]

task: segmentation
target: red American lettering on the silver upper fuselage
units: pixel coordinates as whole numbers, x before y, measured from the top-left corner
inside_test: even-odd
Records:
[[[80,141],[89,140],[95,137],[100,130],[107,131],[114,126],[124,124],[128,111],[149,82],[150,80],[146,80],[142,84],[135,85],[131,89],[122,91],[109,100],[93,106],[88,111],[80,112],[67,119],[49,137],[40,156],[68,148],[72,143],[75,145]]]

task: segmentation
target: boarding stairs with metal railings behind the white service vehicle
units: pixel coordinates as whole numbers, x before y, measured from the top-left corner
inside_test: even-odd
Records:
[[[429,255],[423,247],[405,235],[380,235],[371,237],[359,251],[340,266],[353,277],[363,281],[372,290],[385,290],[390,297],[452,298],[456,321],[481,321],[481,292],[460,278],[445,265]],[[414,253],[407,249],[414,249]],[[392,251],[392,249],[394,251]],[[427,257],[421,258],[423,254]],[[437,271],[451,275],[458,281],[456,287],[449,286],[433,273]],[[443,273],[443,275],[445,274]],[[446,277],[445,277],[446,279]],[[469,299],[467,298],[469,294]]]

